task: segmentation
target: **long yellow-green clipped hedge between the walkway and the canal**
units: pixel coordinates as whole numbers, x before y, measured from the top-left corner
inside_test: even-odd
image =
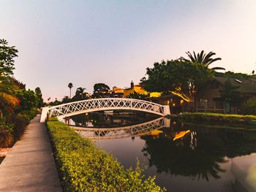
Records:
[[[112,155],[64,123],[47,123],[64,191],[164,191],[139,165],[124,169]]]

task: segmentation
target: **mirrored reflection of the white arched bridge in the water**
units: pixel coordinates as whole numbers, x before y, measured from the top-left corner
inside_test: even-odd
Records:
[[[157,118],[146,123],[140,123],[134,126],[124,126],[116,128],[86,128],[70,126],[78,131],[83,137],[90,139],[118,139],[124,137],[135,137],[148,134],[151,131],[170,126],[170,119]]]

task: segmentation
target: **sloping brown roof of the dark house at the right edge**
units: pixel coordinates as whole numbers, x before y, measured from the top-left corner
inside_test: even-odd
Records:
[[[224,85],[227,80],[230,80],[231,84],[237,86],[237,91],[240,93],[256,93],[256,80],[248,79],[241,80],[236,78],[228,78],[228,77],[214,77],[214,80]]]

